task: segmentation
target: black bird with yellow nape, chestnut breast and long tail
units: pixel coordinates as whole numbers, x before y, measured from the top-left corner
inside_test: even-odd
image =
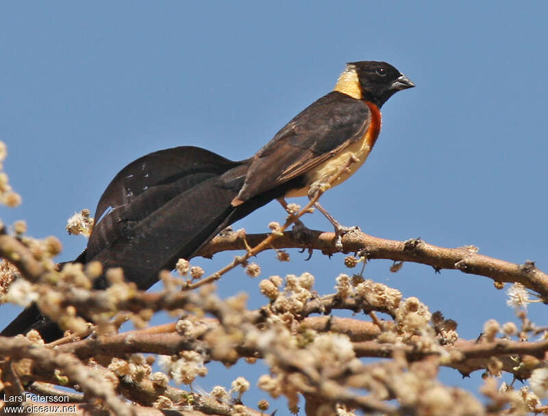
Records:
[[[415,84],[387,62],[349,62],[334,90],[282,127],[251,158],[232,161],[192,146],[155,151],[127,164],[107,186],[95,210],[88,244],[75,262],[121,267],[125,279],[149,289],[163,269],[189,259],[228,225],[278,199],[308,196],[349,164],[338,185],[365,162],[379,136],[380,109]],[[316,202],[338,236],[348,228]],[[105,289],[106,279],[95,280]],[[3,336],[36,329],[45,341],[62,330],[33,304]]]

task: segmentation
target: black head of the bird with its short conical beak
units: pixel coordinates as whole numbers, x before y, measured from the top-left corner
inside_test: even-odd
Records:
[[[415,86],[406,75],[386,62],[349,62],[343,75],[345,73],[359,84],[360,98],[373,101],[379,107],[398,91]]]

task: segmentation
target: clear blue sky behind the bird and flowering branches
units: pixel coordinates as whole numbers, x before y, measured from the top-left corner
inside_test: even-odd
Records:
[[[547,13],[542,1],[4,2],[0,140],[23,205],[0,217],[59,236],[59,260],[74,258],[86,242],[66,235],[66,219],[94,211],[128,162],[178,145],[247,158],[329,92],[345,62],[386,60],[416,88],[386,103],[369,160],[323,206],[375,236],[473,244],[546,271]],[[283,216],[270,204],[235,226],[264,232]],[[304,221],[330,229],[319,214]],[[310,271],[316,290],[331,293],[345,271],[343,255],[290,254],[284,264],[261,254],[262,276]],[[215,271],[231,256],[195,263]],[[366,276],[442,310],[462,337],[490,318],[516,321],[491,280],[412,264],[393,274],[390,264],[374,260]],[[258,282],[233,271],[219,289],[249,291],[256,307]],[[16,314],[2,308],[1,327]],[[530,314],[547,323],[543,306]],[[204,389],[249,370],[215,368]],[[252,384],[261,371],[249,372]],[[442,376],[472,391],[480,382],[479,372]],[[251,394],[250,404],[266,396]]]

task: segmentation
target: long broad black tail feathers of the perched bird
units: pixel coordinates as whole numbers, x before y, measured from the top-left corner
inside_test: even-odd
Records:
[[[103,270],[121,267],[126,280],[149,289],[162,269],[178,258],[190,258],[228,225],[284,195],[292,182],[231,205],[245,179],[248,160],[233,162],[198,147],[175,147],[128,164],[99,200],[95,226],[86,250],[75,261],[99,261]],[[106,287],[104,277],[97,289]],[[47,342],[62,330],[29,306],[2,332],[3,336],[36,329]]]

